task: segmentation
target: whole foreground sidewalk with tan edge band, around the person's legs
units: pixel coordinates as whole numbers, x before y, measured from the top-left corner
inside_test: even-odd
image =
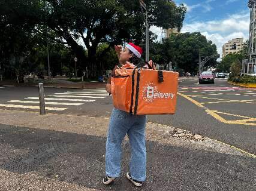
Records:
[[[29,119],[29,120],[28,120]],[[0,190],[255,190],[256,160],[200,135],[147,123],[147,180],[104,186],[108,118],[0,110]]]

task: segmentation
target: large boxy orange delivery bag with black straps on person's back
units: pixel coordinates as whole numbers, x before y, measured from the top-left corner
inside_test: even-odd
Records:
[[[113,105],[132,115],[174,114],[179,74],[153,69],[116,69]]]

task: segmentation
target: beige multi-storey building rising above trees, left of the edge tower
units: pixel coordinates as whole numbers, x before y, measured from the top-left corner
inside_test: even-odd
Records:
[[[222,58],[228,54],[239,53],[243,48],[243,38],[234,38],[222,47]]]

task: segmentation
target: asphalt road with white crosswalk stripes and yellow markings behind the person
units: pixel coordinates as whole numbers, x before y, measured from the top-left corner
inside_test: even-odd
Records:
[[[46,101],[51,102],[47,104],[50,109],[47,113],[111,115],[112,98],[104,90],[46,88],[45,94],[49,99]],[[38,101],[37,97],[37,87],[0,87],[0,109],[38,112],[38,103],[31,102]],[[150,115],[147,119],[189,130],[255,154],[255,104],[256,90],[233,87],[227,79],[200,85],[197,79],[182,79],[179,82],[176,114]]]

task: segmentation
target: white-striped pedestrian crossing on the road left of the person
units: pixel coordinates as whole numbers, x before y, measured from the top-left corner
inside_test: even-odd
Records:
[[[72,106],[82,106],[83,104],[107,97],[109,97],[109,93],[104,88],[98,88],[54,93],[45,96],[44,100],[46,110],[63,111]],[[0,107],[40,109],[38,97],[24,97],[23,100],[8,100],[7,103],[0,103]]]

